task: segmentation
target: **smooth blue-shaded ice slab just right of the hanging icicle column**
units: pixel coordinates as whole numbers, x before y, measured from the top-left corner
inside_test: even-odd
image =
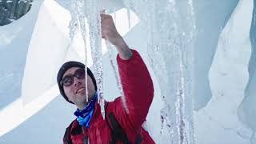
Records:
[[[194,44],[194,109],[200,110],[212,93],[208,78],[217,49],[218,37],[229,21],[238,0],[194,1],[197,37]]]

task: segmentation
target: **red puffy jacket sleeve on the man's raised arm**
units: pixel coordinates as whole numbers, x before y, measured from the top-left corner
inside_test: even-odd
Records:
[[[153,100],[154,86],[141,56],[136,50],[132,53],[128,60],[118,55],[117,62],[129,118],[135,128],[141,128]]]

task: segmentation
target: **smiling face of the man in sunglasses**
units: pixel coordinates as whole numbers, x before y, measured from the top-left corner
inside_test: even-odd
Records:
[[[75,71],[81,69],[80,67],[71,67],[66,70],[63,74],[62,79],[69,75],[74,75]],[[82,69],[83,70],[83,69]],[[88,86],[88,99],[90,101],[95,93],[94,82],[87,76],[87,86]],[[81,106],[86,104],[86,83],[85,78],[74,77],[74,82],[70,86],[63,86],[66,97],[69,98],[71,102],[75,105]]]

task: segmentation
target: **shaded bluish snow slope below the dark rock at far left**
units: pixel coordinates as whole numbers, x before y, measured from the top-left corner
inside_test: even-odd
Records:
[[[24,17],[10,25],[0,26],[0,109],[21,96],[26,52],[41,4],[42,1],[34,2]]]

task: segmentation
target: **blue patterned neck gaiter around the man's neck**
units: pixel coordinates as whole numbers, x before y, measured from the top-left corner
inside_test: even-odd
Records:
[[[74,115],[77,116],[77,121],[79,125],[84,125],[86,128],[89,128],[90,119],[94,113],[94,104],[97,101],[98,93],[94,94],[94,98],[83,108],[83,110],[77,109],[74,112]]]

